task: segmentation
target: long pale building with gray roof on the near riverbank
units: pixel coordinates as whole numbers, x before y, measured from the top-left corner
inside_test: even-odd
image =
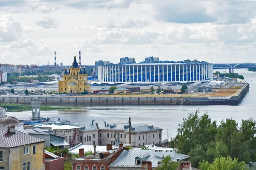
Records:
[[[128,123],[107,124],[92,123],[82,124],[79,130],[79,143],[87,145],[129,144]],[[153,125],[131,125],[131,144],[142,146],[162,142],[162,130]]]

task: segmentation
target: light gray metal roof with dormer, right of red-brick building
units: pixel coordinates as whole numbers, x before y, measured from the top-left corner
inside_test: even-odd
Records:
[[[157,167],[157,162],[161,161],[163,156],[171,156],[174,161],[176,161],[176,159],[183,160],[189,158],[188,155],[179,153],[155,152],[154,150],[139,149],[124,150],[109,167],[141,167],[141,162],[140,164],[135,164],[135,158],[151,161],[152,167]]]

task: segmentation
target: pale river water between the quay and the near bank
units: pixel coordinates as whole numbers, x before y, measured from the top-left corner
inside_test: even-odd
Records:
[[[217,70],[214,70],[217,71]],[[228,72],[221,69],[220,72]],[[84,111],[41,111],[41,117],[55,117],[60,119],[69,119],[72,123],[90,123],[106,121],[108,124],[128,122],[131,117],[132,124],[141,123],[154,125],[163,128],[163,139],[167,138],[167,128],[169,137],[177,134],[177,125],[183,122],[183,117],[187,113],[199,109],[200,114],[208,113],[212,120],[220,122],[222,119],[232,118],[236,122],[242,119],[256,119],[256,73],[247,71],[247,69],[235,69],[236,73],[242,74],[245,80],[250,84],[250,89],[239,105],[102,105],[102,106],[83,106],[83,105],[64,105],[70,107],[79,107]],[[7,112],[7,116],[15,116],[18,119],[31,117],[31,111]]]

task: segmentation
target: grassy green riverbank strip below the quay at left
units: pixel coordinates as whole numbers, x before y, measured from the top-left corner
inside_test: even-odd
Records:
[[[1,108],[7,108],[6,111],[31,111],[30,105],[21,105],[13,103],[0,103]],[[69,107],[52,107],[52,106],[41,106],[41,111],[56,111],[56,110],[78,110],[80,108],[69,108]]]

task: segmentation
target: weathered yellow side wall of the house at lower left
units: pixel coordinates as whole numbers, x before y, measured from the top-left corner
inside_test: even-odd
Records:
[[[33,146],[36,145],[36,153],[33,154]],[[29,147],[29,154],[23,154],[23,148]],[[25,153],[26,153],[25,152]],[[30,170],[44,170],[44,142],[28,144],[10,148],[9,170],[23,170],[23,163],[30,162]],[[27,169],[27,167],[26,167]]]

